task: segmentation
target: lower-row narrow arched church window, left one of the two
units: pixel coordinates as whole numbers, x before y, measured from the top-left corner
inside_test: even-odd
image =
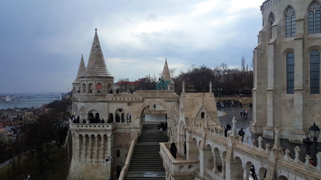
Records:
[[[294,94],[294,54],[286,55],[286,94]]]

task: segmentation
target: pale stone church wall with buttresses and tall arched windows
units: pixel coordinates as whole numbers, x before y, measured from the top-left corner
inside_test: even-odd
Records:
[[[321,3],[316,0],[266,0],[262,29],[254,49],[251,132],[301,142],[308,128],[321,124]]]

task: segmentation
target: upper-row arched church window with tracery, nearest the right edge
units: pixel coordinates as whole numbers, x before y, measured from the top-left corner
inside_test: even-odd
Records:
[[[321,33],[320,4],[316,1],[309,5],[309,34]]]

